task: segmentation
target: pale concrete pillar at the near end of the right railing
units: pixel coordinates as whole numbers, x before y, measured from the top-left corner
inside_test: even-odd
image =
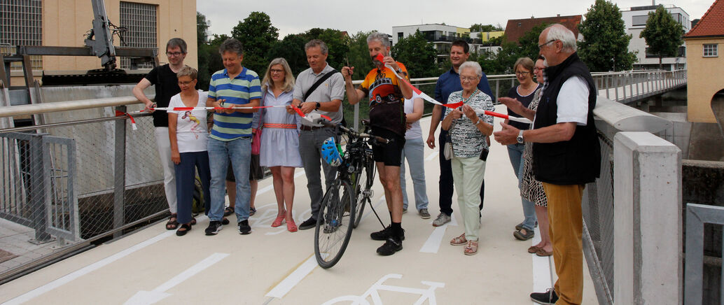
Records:
[[[614,304],[681,304],[681,150],[649,132],[613,147]]]

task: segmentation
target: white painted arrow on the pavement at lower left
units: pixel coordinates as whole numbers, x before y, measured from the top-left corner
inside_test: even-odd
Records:
[[[173,288],[175,285],[182,283],[184,280],[188,280],[189,278],[193,277],[193,275],[203,271],[208,267],[211,267],[211,265],[216,264],[217,262],[224,259],[224,257],[228,256],[229,254],[226,253],[211,254],[211,256],[206,257],[201,262],[198,262],[196,265],[193,265],[187,270],[184,270],[183,272],[179,273],[179,275],[174,276],[166,283],[159,285],[159,287],[156,287],[152,291],[138,291],[138,293],[129,298],[128,301],[126,301],[124,304],[148,305],[161,301],[162,299],[171,296],[171,293],[167,293],[166,291]]]

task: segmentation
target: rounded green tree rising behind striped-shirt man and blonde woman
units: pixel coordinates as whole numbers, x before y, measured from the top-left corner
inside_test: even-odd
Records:
[[[231,30],[231,35],[244,46],[242,65],[257,74],[264,74],[266,65],[269,64],[266,56],[279,38],[279,29],[271,25],[269,15],[264,12],[251,12]]]

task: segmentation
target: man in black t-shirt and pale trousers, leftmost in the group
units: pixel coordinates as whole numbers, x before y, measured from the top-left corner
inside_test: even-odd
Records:
[[[150,111],[155,107],[168,107],[169,100],[174,95],[181,92],[178,84],[176,72],[185,66],[183,60],[186,58],[186,42],[181,38],[171,38],[166,43],[166,56],[169,63],[163,66],[156,66],[148,72],[138,85],[133,87],[133,96],[146,104],[146,111]],[[156,89],[156,98],[153,103],[143,90],[148,86],[154,85]],[[166,111],[153,111],[153,127],[156,135],[156,145],[159,148],[159,156],[161,160],[161,168],[164,169],[164,189],[166,190],[166,199],[169,202],[169,210],[171,211],[171,219],[166,224],[167,230],[175,230],[178,223],[176,222],[176,173],[174,171],[174,163],[171,162],[171,142],[169,142],[169,115]]]

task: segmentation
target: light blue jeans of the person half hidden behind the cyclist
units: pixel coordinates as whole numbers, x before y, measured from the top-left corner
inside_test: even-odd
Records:
[[[405,140],[402,161],[400,162],[400,187],[403,189],[403,209],[405,210],[407,210],[408,207],[407,192],[405,191],[405,159],[408,160],[410,176],[412,177],[412,183],[415,189],[415,207],[419,211],[426,209],[429,203],[425,186],[424,148],[422,137]]]

